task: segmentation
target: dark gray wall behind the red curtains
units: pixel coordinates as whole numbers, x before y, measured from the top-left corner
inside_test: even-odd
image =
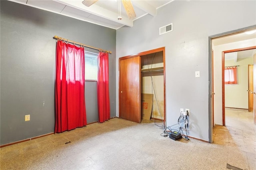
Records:
[[[10,1],[0,1],[0,12],[1,145],[54,131],[55,35],[112,51],[110,107],[116,115],[116,30]],[[98,121],[95,84],[86,82],[88,123]]]

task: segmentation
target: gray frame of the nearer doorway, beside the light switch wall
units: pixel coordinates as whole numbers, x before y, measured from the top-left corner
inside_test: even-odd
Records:
[[[208,138],[209,138],[209,143],[212,143],[212,40],[216,39],[216,38],[222,38],[222,37],[226,37],[226,36],[231,36],[234,34],[239,34],[242,32],[247,32],[250,30],[254,30],[256,28],[256,25],[253,26],[248,26],[245,28],[240,28],[238,30],[232,30],[229,32],[224,32],[224,33],[220,33],[220,34],[215,34],[213,36],[209,36],[208,37]]]

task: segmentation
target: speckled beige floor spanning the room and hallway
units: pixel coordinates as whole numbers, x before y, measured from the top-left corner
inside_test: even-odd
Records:
[[[153,121],[114,118],[2,147],[0,169],[256,170],[256,125],[246,110],[227,109],[226,127],[214,127],[212,144],[161,133]]]

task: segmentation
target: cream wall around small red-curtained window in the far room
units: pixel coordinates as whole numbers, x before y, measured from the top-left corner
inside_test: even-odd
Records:
[[[237,84],[225,84],[225,107],[248,109],[248,65],[253,64],[253,58],[225,60],[225,67],[239,65],[237,70]]]

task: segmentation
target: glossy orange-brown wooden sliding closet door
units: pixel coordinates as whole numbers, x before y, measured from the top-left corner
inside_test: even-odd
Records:
[[[140,56],[119,61],[119,117],[141,122]]]

